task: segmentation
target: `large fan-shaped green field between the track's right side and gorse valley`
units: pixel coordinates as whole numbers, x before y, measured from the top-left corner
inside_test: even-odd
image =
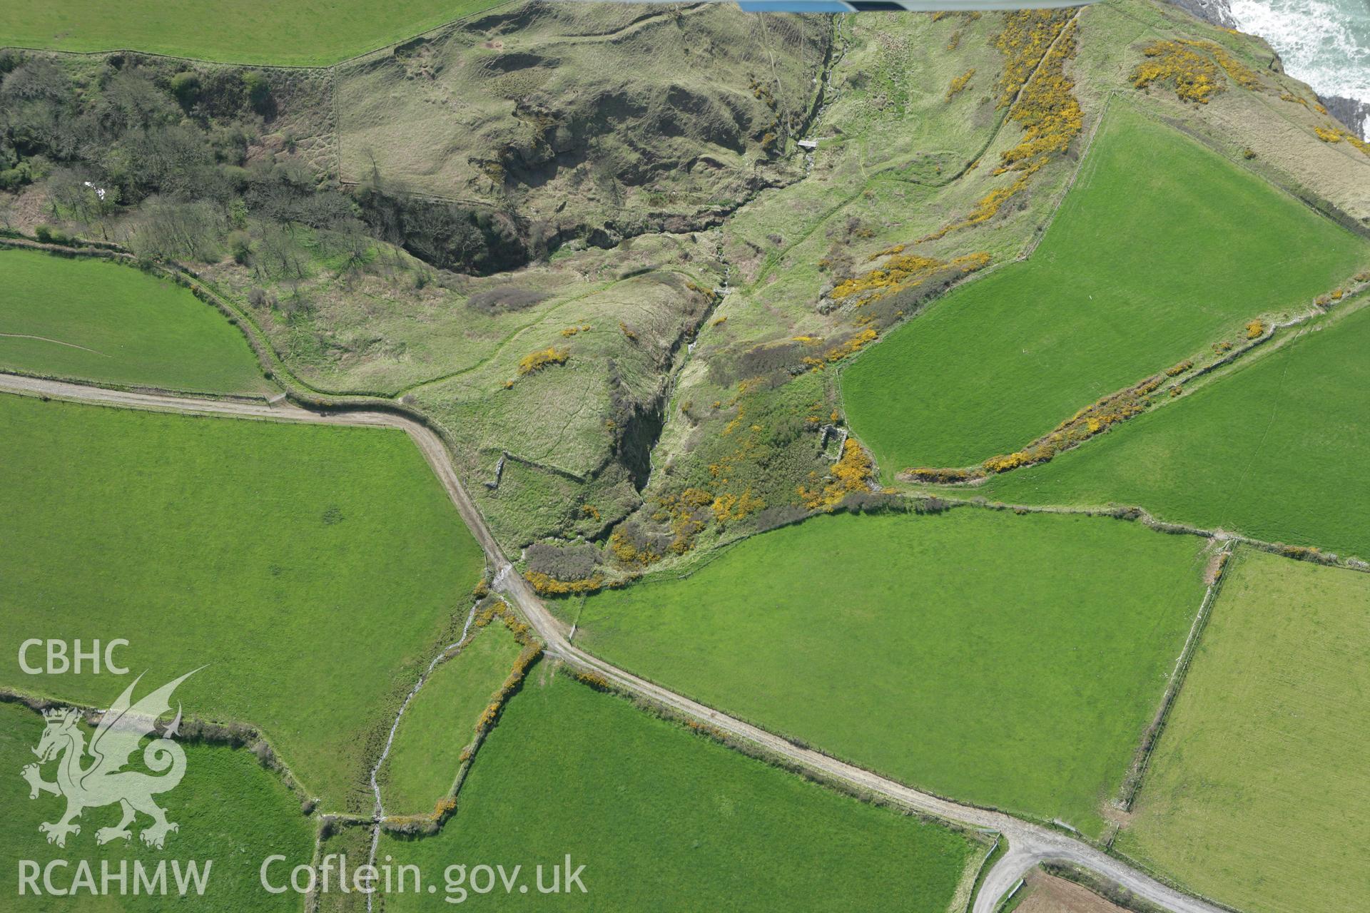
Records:
[[[1095,832],[1199,608],[1200,548],[1080,516],[818,517],[590,597],[577,642],[903,782]]]

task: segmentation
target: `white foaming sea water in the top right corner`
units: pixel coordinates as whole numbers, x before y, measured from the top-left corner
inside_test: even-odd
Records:
[[[1370,0],[1229,3],[1237,27],[1269,41],[1289,75],[1321,96],[1370,103]]]

